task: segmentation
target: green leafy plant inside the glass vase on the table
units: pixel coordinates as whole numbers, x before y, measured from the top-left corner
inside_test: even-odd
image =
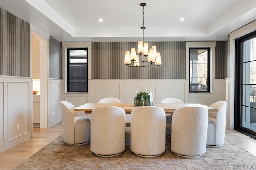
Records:
[[[136,97],[134,97],[134,105],[135,106],[151,106],[154,105],[154,100],[151,103],[149,93],[140,91],[137,93]]]

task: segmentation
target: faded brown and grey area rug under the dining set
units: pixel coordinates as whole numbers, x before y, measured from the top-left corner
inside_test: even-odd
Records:
[[[256,169],[256,156],[225,140],[220,148],[207,148],[200,158],[182,158],[170,150],[170,138],[166,138],[166,151],[155,158],[142,158],[130,150],[130,138],[126,138],[126,149],[119,156],[98,157],[90,151],[90,143],[83,146],[64,144],[62,135],[36,152],[19,169]]]

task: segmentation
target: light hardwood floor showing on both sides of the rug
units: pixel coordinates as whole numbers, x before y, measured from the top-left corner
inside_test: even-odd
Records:
[[[33,128],[33,137],[0,154],[0,169],[12,170],[62,134],[62,124],[48,129]],[[256,140],[235,130],[226,130],[226,139],[256,156]]]

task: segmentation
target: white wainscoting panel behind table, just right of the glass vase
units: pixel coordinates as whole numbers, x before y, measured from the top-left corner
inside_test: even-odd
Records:
[[[185,83],[156,83],[156,103],[169,97],[180,99],[185,103]]]

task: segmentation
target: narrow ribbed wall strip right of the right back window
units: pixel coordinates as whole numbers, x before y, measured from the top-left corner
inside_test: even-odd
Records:
[[[216,42],[215,52],[215,79],[225,79],[228,76],[228,42]]]

